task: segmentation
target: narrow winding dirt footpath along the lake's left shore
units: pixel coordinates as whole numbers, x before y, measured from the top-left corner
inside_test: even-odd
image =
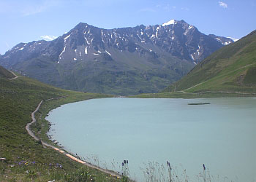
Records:
[[[60,97],[60,98],[63,98],[63,97]],[[53,100],[53,99],[59,99],[59,98],[50,98],[50,99],[48,99],[48,100]],[[47,100],[45,100],[45,101],[47,101]],[[31,124],[33,124],[34,122],[37,122],[37,120],[35,119],[34,114],[39,110],[40,106],[42,105],[42,102],[43,102],[43,100],[41,100],[41,102],[38,104],[36,110],[34,110],[34,112],[31,113],[32,122],[26,124],[26,130],[27,130],[27,132],[28,132],[29,135],[31,135],[31,137],[33,137],[34,140],[36,140],[36,141],[39,141],[39,138],[37,138],[37,136],[34,135],[34,133],[30,130],[30,126],[31,126]],[[96,166],[96,165],[92,165],[91,163],[85,162],[85,161],[83,161],[83,160],[80,160],[80,159],[78,159],[77,157],[74,157],[74,156],[72,156],[71,154],[68,154],[66,151],[63,151],[63,150],[61,150],[61,149],[58,149],[58,148],[55,147],[55,146],[51,146],[50,144],[45,143],[45,142],[43,142],[43,141],[41,141],[41,142],[42,142],[42,146],[47,146],[47,147],[50,147],[51,149],[54,149],[54,150],[56,150],[56,151],[59,151],[59,153],[64,154],[65,156],[69,157],[70,159],[74,160],[75,162],[79,162],[79,163],[81,163],[81,164],[83,164],[83,165],[86,165],[87,167],[91,167],[91,168],[94,168],[94,169],[96,169],[96,170],[100,170],[101,172],[106,173],[106,174],[109,174],[109,175],[112,175],[113,177],[121,178],[121,175],[119,175],[119,174],[116,173],[116,172],[113,172],[113,171],[110,171],[110,170],[105,170],[105,169],[103,169],[103,168],[101,168],[101,167],[98,167],[98,166]]]

